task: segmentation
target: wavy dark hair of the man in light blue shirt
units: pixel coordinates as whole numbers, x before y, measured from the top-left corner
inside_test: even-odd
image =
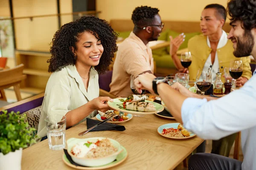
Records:
[[[247,31],[256,28],[256,0],[230,0],[227,11],[231,17],[230,24],[239,20]]]

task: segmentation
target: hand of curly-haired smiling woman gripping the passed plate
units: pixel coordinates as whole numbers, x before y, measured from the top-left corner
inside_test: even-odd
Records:
[[[107,104],[108,101],[113,102],[113,99],[110,97],[97,97],[88,103],[90,103],[90,107],[93,110],[106,112],[111,109]]]

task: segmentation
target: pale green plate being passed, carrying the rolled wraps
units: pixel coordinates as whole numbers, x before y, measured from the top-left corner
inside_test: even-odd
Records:
[[[154,107],[156,108],[156,111],[154,112],[140,112],[140,111],[130,111],[130,110],[127,110],[127,109],[124,109],[124,108],[121,108],[122,107],[122,101],[126,100],[126,98],[116,98],[116,99],[113,99],[114,101],[113,102],[109,102],[108,101],[108,106],[116,111],[122,111],[122,112],[125,112],[125,113],[131,113],[131,114],[154,114],[154,113],[159,113],[161,111],[164,110],[164,107],[163,105],[160,105],[156,102],[152,102],[152,101],[149,101],[149,100],[145,100],[145,102],[149,102],[149,103],[152,103],[154,105]]]

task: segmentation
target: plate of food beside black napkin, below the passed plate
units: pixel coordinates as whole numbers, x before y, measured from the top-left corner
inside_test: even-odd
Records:
[[[121,111],[108,110],[105,113],[101,111],[98,111],[98,112],[99,114],[96,115],[96,119],[98,119],[99,121],[104,121],[105,119],[108,119],[109,117],[111,117],[108,123],[127,122],[132,118],[132,114],[124,113]]]

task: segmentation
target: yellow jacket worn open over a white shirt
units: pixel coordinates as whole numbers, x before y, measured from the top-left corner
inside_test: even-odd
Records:
[[[189,77],[190,80],[195,81],[198,69],[204,68],[204,63],[209,57],[212,49],[207,45],[207,37],[203,34],[192,37],[188,42],[188,49],[192,55],[192,63],[189,66]],[[219,67],[223,66],[224,68],[229,68],[230,61],[239,59],[233,55],[233,51],[234,48],[231,40],[228,40],[224,47],[217,49]],[[250,79],[250,77],[252,77],[250,57],[241,57],[240,59],[243,62],[242,77]],[[222,72],[222,75],[224,75],[224,72]],[[223,83],[225,82],[224,77],[221,78],[221,81]]]

